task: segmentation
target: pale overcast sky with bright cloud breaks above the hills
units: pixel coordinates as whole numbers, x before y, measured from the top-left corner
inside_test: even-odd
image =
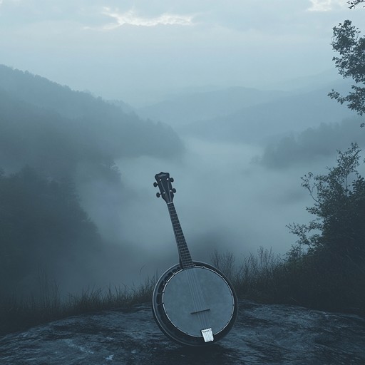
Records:
[[[333,68],[346,0],[0,0],[0,63],[143,103],[192,86],[272,86]]]

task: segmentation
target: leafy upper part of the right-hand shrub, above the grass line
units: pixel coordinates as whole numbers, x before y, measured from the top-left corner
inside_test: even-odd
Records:
[[[339,152],[327,175],[304,175],[302,186],[314,200],[307,211],[317,216],[308,225],[289,225],[299,245],[309,252],[357,260],[365,255],[365,180],[359,175],[360,148],[356,143]],[[312,234],[314,232],[314,234]],[[312,235],[309,235],[312,234]]]

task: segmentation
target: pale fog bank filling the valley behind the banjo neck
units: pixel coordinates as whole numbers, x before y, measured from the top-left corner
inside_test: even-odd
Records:
[[[175,179],[174,203],[192,259],[210,262],[214,250],[233,252],[236,263],[262,246],[282,255],[296,237],[291,222],[307,223],[305,207],[312,205],[300,177],[309,170],[322,173],[334,164],[334,155],[287,169],[266,168],[257,163],[259,145],[210,142],[185,138],[180,160],[141,156],[118,160],[123,180],[123,202],[115,205],[118,192],[109,191],[86,207],[108,242],[121,245],[118,275],[125,284],[178,262],[173,229],[165,201],[157,198],[154,176],[169,172]],[[334,151],[335,152],[335,151]],[[93,187],[92,194],[103,187]],[[90,195],[88,195],[90,199]],[[108,200],[109,199],[109,200]],[[118,280],[109,271],[110,282]]]

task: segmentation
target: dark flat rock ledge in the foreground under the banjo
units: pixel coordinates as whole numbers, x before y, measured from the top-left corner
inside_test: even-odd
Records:
[[[148,304],[61,319],[0,338],[2,365],[365,364],[365,319],[241,301],[216,344],[188,348],[160,332]]]

